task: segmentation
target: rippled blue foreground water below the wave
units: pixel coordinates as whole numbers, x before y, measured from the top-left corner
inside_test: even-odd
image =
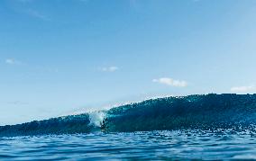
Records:
[[[164,130],[0,138],[0,160],[256,159],[251,131]]]

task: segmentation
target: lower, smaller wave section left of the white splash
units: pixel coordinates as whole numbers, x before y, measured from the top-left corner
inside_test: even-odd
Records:
[[[45,121],[32,121],[23,124],[0,127],[0,136],[87,133],[95,130],[89,114],[79,114],[53,118]]]

